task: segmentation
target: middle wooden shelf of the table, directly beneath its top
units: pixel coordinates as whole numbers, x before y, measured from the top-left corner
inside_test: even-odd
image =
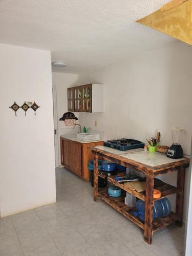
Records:
[[[101,173],[98,174],[101,178],[105,179],[106,177],[102,175]],[[119,183],[118,181],[115,180],[115,175],[113,176],[108,176],[108,181],[111,182],[112,184],[116,185],[117,187],[122,188],[123,190],[127,191],[128,193],[136,196],[137,198],[145,201],[145,191],[144,192],[137,192],[136,190],[132,190],[125,186],[123,183]],[[179,190],[177,187],[174,187],[172,185],[169,185],[167,183],[164,183],[163,186],[157,187],[158,190],[161,191],[161,198],[168,197],[173,194],[181,194],[182,190]],[[161,199],[159,198],[159,199]],[[154,199],[154,201],[159,200],[159,199]]]

